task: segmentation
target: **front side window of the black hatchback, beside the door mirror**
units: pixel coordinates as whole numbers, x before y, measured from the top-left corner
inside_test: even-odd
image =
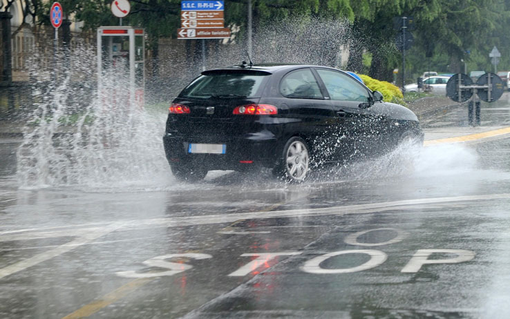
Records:
[[[349,77],[342,72],[333,70],[318,69],[317,72],[321,76],[321,79],[324,82],[332,100],[369,101],[370,94],[368,93],[368,90],[356,79],[352,79],[352,77]]]

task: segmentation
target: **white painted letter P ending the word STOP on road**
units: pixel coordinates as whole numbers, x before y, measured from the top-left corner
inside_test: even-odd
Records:
[[[448,259],[432,259],[429,260],[428,256],[433,253],[452,253],[457,255],[455,258]],[[418,249],[402,269],[402,273],[417,273],[424,264],[456,264],[457,262],[468,262],[475,258],[473,251],[466,251],[464,249]]]

